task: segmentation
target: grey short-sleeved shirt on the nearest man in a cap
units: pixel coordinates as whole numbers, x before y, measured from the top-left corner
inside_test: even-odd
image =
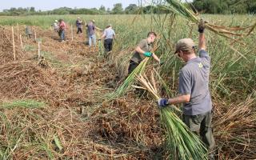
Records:
[[[205,50],[199,57],[190,59],[179,74],[179,94],[190,94],[190,102],[184,103],[183,114],[198,115],[212,110],[209,91],[210,56]]]

